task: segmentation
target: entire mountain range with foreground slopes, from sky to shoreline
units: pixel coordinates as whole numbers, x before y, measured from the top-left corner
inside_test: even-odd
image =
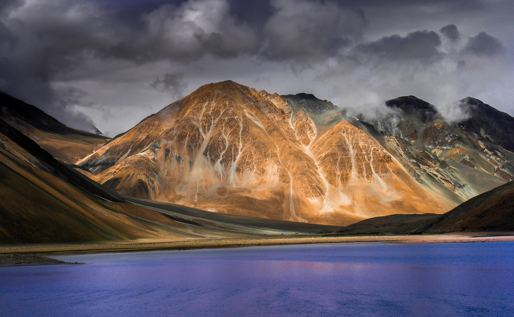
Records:
[[[514,229],[514,118],[470,97],[461,122],[386,106],[227,81],[109,139],[0,93],[0,241]]]

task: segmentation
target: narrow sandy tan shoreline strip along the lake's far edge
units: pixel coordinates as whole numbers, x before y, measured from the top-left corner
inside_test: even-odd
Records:
[[[326,235],[326,236],[268,236],[229,239],[203,239],[186,241],[131,241],[91,244],[38,244],[0,246],[0,253],[25,253],[40,255],[137,252],[159,250],[188,250],[205,248],[227,248],[248,246],[269,246],[310,243],[455,243],[455,242],[514,242],[514,232],[457,232],[423,235]]]

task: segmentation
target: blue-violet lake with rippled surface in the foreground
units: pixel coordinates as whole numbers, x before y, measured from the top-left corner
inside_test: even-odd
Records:
[[[0,316],[512,316],[514,243],[52,256],[0,268]]]

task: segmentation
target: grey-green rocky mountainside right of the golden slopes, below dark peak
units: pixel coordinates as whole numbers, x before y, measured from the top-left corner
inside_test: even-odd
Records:
[[[392,117],[374,121],[373,125],[362,120],[359,124],[418,183],[458,204],[512,179],[512,153],[490,141],[483,131],[446,122],[432,105],[414,96],[399,97],[386,104],[397,111]],[[503,129],[504,133],[508,128],[509,125]]]

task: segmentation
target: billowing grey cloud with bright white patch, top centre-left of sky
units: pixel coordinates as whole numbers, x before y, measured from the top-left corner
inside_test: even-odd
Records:
[[[139,63],[170,59],[197,60],[205,54],[235,57],[259,48],[255,31],[230,14],[224,0],[162,5],[140,16],[143,26],[109,50]]]

